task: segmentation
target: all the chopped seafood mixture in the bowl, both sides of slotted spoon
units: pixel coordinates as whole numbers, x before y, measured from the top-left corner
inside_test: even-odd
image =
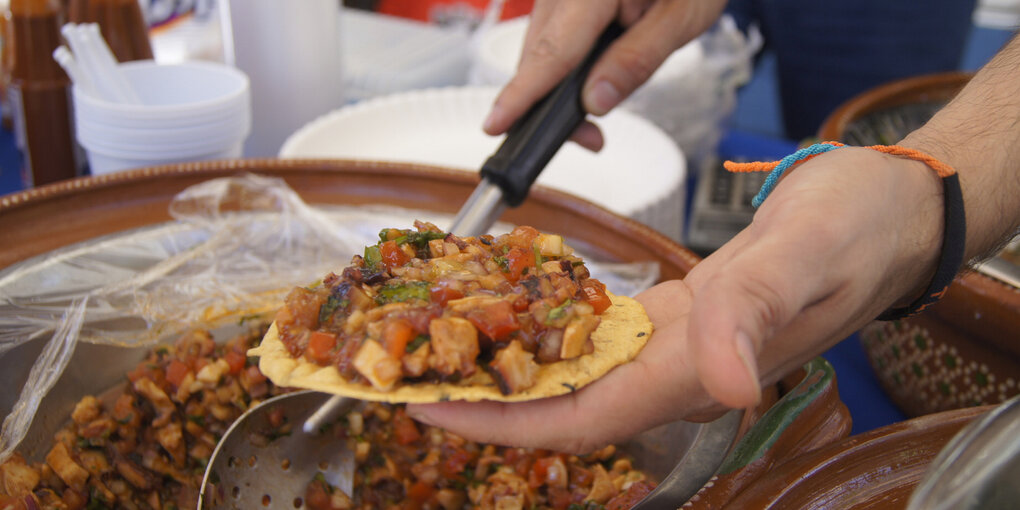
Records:
[[[195,508],[221,435],[288,391],[244,356],[264,330],[222,345],[191,332],[153,350],[122,387],[84,397],[43,461],[0,464],[0,510]],[[398,405],[364,403],[332,434],[355,452],[354,494],[317,477],[295,495],[307,508],[619,510],[655,487],[612,446],[575,456],[473,443]]]

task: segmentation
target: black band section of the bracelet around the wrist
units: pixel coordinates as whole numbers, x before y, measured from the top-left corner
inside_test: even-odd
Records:
[[[963,253],[967,239],[967,217],[963,208],[963,191],[957,173],[942,177],[942,196],[946,209],[942,232],[942,250],[938,256],[938,267],[920,298],[903,308],[889,308],[878,316],[878,320],[896,320],[921,313],[937,302],[946,294],[953,278],[963,265]]]

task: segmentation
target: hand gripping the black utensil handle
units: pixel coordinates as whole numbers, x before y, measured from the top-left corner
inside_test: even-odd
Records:
[[[580,64],[613,19],[626,29],[592,67],[581,90],[584,109],[604,115],[677,48],[711,27],[724,0],[538,0],[517,73],[496,98],[482,129],[505,133]],[[583,122],[572,140],[599,150],[602,134]]]

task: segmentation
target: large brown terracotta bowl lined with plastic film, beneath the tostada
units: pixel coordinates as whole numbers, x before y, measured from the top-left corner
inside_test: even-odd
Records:
[[[63,182],[0,197],[0,232],[5,241],[0,246],[0,275],[45,261],[54,250],[93,246],[98,238],[105,241],[166,223],[171,220],[167,212],[170,200],[186,188],[245,172],[280,177],[312,205],[384,204],[447,213],[456,212],[477,184],[474,173],[436,167],[274,159],[168,165]],[[662,279],[682,277],[699,260],[687,249],[636,221],[549,189],[532,190],[521,207],[507,211],[502,219],[563,233],[572,246],[593,259],[658,262]],[[0,388],[4,389],[0,391],[0,412],[11,409],[43,340],[0,354]],[[101,392],[122,380],[124,372],[141,359],[137,351],[80,344],[68,368],[42,401],[32,430],[21,444],[26,457],[45,455],[53,431],[73,404],[87,393]],[[693,445],[707,430],[700,423],[670,423],[634,441],[641,440],[644,450],[640,451],[656,460],[656,469],[665,473],[673,466],[718,466],[723,462],[724,469],[715,481],[704,487],[699,481],[685,493],[701,489],[698,507],[711,508],[706,502],[727,501],[770,466],[845,438],[850,430],[849,412],[838,399],[832,367],[820,358],[767,388],[762,406],[747,410],[743,416],[743,422],[734,423],[720,448],[698,455]],[[740,415],[735,421],[741,421]],[[692,447],[684,453],[687,446]],[[677,461],[677,457],[682,458]],[[715,472],[715,467],[711,469],[702,479]],[[679,482],[690,484],[691,480]]]

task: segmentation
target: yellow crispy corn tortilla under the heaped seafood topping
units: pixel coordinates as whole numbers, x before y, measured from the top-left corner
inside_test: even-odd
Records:
[[[630,361],[652,335],[652,321],[641,303],[625,296],[607,294],[613,304],[602,313],[599,327],[592,333],[595,352],[555,363],[540,363],[534,386],[510,395],[500,393],[493,377],[481,369],[458,382],[398,382],[386,392],[367,382],[352,382],[344,379],[335,366],[292,358],[279,340],[275,323],[269,327],[262,344],[248,351],[248,355],[259,356],[258,366],[262,373],[277,386],[360,400],[420,404],[447,400],[521,402],[555,397],[579,390],[615,366]]]

